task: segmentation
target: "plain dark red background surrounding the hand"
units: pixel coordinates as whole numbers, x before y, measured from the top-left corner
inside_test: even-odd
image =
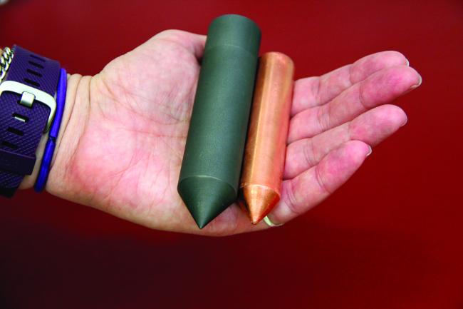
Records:
[[[351,181],[265,233],[150,231],[46,194],[0,200],[0,308],[463,308],[463,1],[11,0],[0,45],[96,74],[164,29],[238,13],[297,77],[401,51],[409,122]]]

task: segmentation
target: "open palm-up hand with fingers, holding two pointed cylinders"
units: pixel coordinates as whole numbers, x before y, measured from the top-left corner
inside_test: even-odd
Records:
[[[200,231],[177,181],[205,36],[164,31],[95,76],[69,78],[47,190],[150,228],[228,235],[251,226],[238,206]],[[366,56],[296,81],[281,201],[286,223],[327,198],[407,117],[385,105],[420,85],[402,54]]]

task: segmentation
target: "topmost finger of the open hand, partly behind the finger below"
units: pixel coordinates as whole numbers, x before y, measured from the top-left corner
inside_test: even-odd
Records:
[[[302,78],[294,84],[291,115],[307,108],[327,103],[339,93],[363,81],[371,74],[391,66],[407,65],[408,60],[398,51],[381,51],[336,69],[328,74]]]

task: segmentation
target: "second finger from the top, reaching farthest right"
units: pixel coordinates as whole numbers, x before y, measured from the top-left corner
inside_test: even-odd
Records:
[[[316,136],[350,121],[370,108],[388,103],[420,86],[421,77],[409,66],[393,66],[369,76],[323,106],[309,108],[291,118],[288,143]]]

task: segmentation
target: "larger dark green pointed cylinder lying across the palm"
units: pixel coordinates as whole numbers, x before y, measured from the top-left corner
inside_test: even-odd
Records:
[[[260,41],[244,16],[209,26],[177,188],[199,228],[236,199]]]

